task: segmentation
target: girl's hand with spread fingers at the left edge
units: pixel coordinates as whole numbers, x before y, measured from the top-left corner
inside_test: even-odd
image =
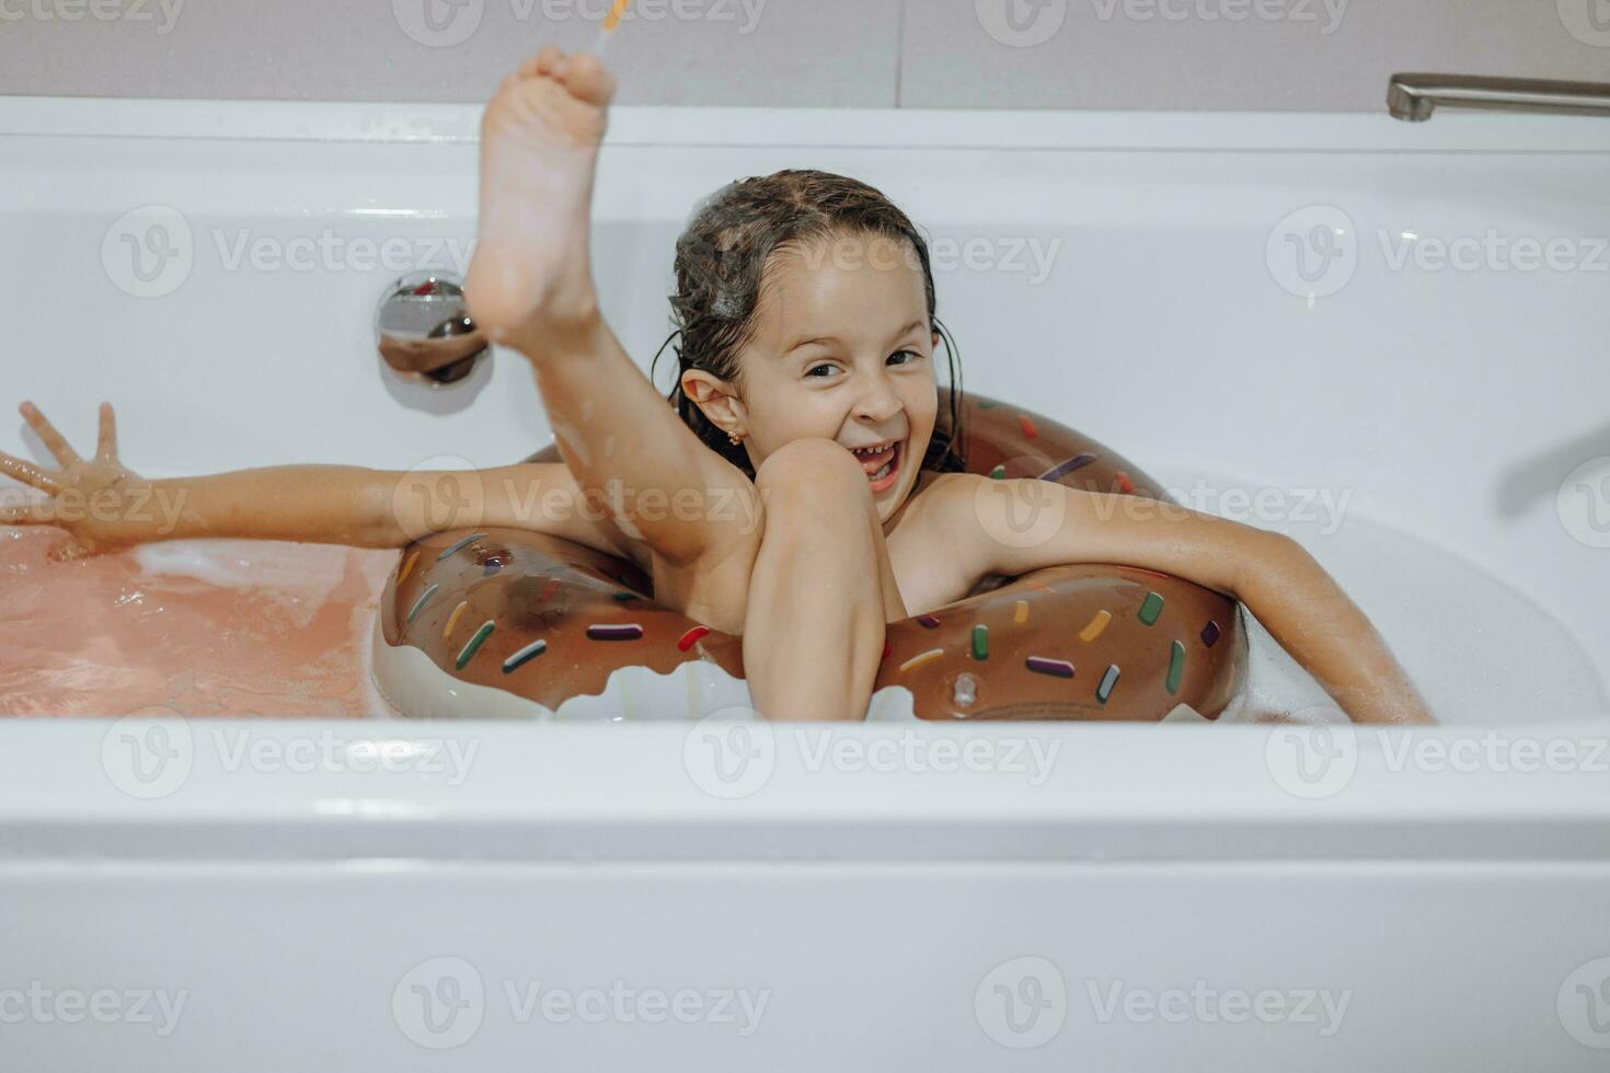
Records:
[[[118,462],[118,426],[109,402],[100,407],[100,442],[93,458],[80,458],[32,402],[18,407],[29,428],[61,463],[52,473],[0,452],[0,473],[37,487],[50,499],[0,507],[0,526],[56,526],[72,541],[52,558],[84,558],[137,544],[134,515],[148,510],[151,484]]]

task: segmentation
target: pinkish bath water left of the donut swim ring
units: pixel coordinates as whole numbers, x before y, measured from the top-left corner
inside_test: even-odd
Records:
[[[370,685],[396,552],[175,541],[56,563],[0,528],[0,716],[386,713]]]

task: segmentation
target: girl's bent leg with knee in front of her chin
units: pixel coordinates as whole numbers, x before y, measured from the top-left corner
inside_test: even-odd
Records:
[[[774,721],[866,717],[884,626],[906,618],[866,471],[799,439],[755,473],[765,529],[749,579],[744,676]]]

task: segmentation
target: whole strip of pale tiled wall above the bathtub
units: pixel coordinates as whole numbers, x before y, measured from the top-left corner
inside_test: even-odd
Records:
[[[478,101],[609,0],[0,0],[0,93]],[[1381,108],[1393,71],[1610,82],[1610,0],[634,0],[623,103]]]

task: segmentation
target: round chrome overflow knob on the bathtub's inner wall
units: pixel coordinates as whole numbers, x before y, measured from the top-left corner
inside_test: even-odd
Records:
[[[386,365],[433,384],[464,380],[488,351],[467,312],[464,282],[448,272],[414,272],[393,283],[375,310],[375,339]]]

